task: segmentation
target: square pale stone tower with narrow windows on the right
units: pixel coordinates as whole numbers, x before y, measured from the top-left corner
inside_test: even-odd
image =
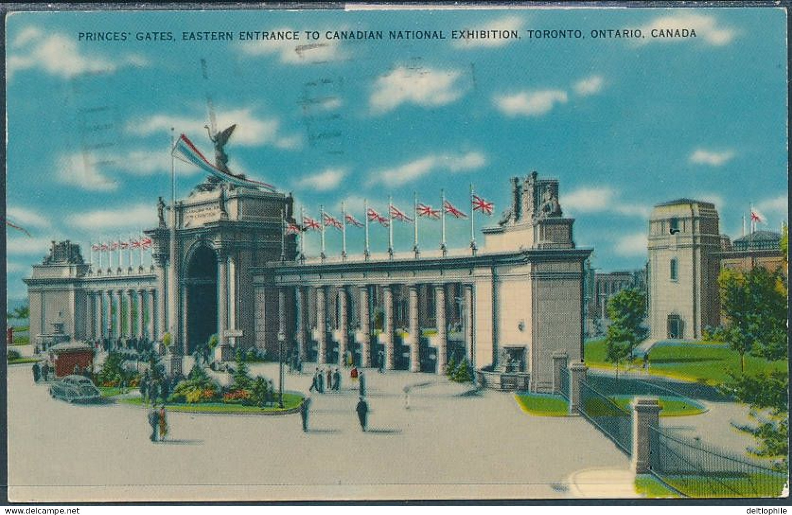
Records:
[[[701,338],[719,319],[721,250],[714,204],[687,198],[657,204],[649,218],[651,338]]]

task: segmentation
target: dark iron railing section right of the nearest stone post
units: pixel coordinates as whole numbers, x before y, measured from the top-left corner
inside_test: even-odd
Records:
[[[775,498],[789,479],[788,472],[747,457],[650,428],[650,467],[672,488],[692,498]]]

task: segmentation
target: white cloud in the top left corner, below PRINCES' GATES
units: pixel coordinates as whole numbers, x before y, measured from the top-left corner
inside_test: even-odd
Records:
[[[82,73],[109,73],[127,64],[138,67],[146,64],[139,55],[124,55],[116,61],[101,55],[86,55],[69,36],[45,35],[35,27],[23,29],[13,40],[12,47],[6,67],[9,78],[18,71],[33,68],[70,78]]]

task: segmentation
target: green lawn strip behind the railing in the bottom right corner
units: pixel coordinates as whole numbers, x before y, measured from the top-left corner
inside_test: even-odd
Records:
[[[778,497],[786,484],[782,475],[669,475],[663,480],[691,498]]]

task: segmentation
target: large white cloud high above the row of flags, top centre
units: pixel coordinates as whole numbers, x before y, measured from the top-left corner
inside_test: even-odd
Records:
[[[462,97],[459,71],[398,67],[374,83],[368,102],[373,113],[388,113],[411,103],[424,107],[450,104]]]

